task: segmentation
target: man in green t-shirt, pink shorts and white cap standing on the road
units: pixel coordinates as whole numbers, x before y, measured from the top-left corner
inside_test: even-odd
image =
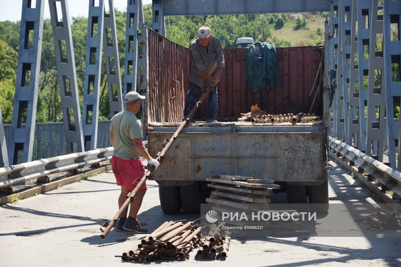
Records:
[[[142,144],[144,127],[135,116],[141,107],[141,99],[145,99],[145,97],[137,92],[127,93],[125,98],[126,109],[111,118],[109,136],[114,148],[111,169],[117,185],[121,186],[121,194],[118,198],[119,208],[126,201],[128,193],[134,190],[132,183],[138,184],[137,178],[141,179],[145,175],[145,167],[140,156],[146,158],[149,164],[154,165],[155,169],[159,166],[159,162],[149,155],[144,144]],[[128,213],[127,207],[120,215],[116,231],[148,233],[148,230],[142,228],[136,218],[146,190],[146,183],[144,183],[130,204],[130,212]]]

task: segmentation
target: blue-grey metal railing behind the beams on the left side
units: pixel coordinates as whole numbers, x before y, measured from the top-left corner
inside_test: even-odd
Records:
[[[24,124],[22,124],[24,127]],[[109,139],[110,121],[99,121],[97,129],[97,147],[111,146]],[[11,140],[11,124],[4,124],[6,144]],[[77,145],[74,149],[76,151]],[[63,122],[38,122],[35,125],[32,160],[61,156],[66,153]],[[22,162],[22,153],[18,155],[18,163]]]

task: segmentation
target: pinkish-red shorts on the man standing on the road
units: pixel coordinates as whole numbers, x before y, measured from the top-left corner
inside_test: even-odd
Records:
[[[138,184],[145,175],[145,166],[140,157],[124,160],[119,157],[111,157],[111,170],[113,170],[118,186],[126,186],[128,190],[134,190],[132,183]],[[138,178],[138,179],[136,179]],[[139,191],[146,191],[146,183]]]

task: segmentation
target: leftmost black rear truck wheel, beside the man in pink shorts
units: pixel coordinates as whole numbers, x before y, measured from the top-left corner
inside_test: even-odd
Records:
[[[165,214],[181,210],[180,186],[159,186],[160,206]]]

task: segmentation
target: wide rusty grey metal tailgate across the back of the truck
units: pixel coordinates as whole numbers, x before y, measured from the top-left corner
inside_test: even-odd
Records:
[[[172,133],[149,132],[155,155]],[[205,180],[214,174],[284,182],[322,178],[322,133],[182,133],[153,180]]]

